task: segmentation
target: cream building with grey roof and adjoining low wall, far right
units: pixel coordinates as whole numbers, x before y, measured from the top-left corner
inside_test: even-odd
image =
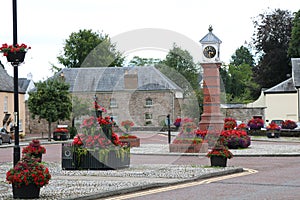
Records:
[[[272,120],[300,121],[300,58],[292,58],[292,76],[287,80],[263,89],[260,97],[249,104],[228,106],[222,110],[227,117],[247,121],[253,116],[262,117],[267,123]]]

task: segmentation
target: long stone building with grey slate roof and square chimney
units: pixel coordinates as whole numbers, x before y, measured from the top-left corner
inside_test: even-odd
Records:
[[[131,120],[135,127],[161,127],[182,116],[183,91],[153,66],[64,68],[57,76],[70,84],[70,93],[86,102],[93,112],[94,97],[118,125]],[[73,109],[76,106],[73,104]],[[84,116],[83,116],[84,117]],[[77,117],[76,122],[81,123]],[[68,123],[70,122],[60,122]],[[31,132],[47,132],[43,121],[30,120]]]

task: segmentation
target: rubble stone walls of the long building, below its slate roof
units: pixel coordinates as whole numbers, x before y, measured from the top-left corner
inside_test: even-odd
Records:
[[[93,102],[95,93],[77,93],[82,101],[86,101],[90,107],[91,115],[94,114]],[[174,121],[176,116],[181,113],[181,99],[176,99],[171,91],[146,92],[137,90],[128,90],[113,93],[97,93],[98,103],[107,109],[107,113],[103,116],[113,116],[118,125],[124,120],[131,120],[135,127],[162,127],[168,114],[171,115],[171,121]],[[116,105],[111,106],[111,99],[116,100]],[[152,105],[146,105],[146,99],[152,100]],[[76,105],[73,105],[76,106]],[[146,113],[150,114],[151,118],[146,119]],[[84,118],[84,117],[82,117]],[[77,119],[77,124],[81,122]],[[58,123],[52,123],[52,132]],[[70,121],[59,122],[59,124],[67,124],[71,126]],[[44,137],[48,135],[48,122],[46,120],[32,119],[26,104],[26,130],[27,133],[40,133]]]

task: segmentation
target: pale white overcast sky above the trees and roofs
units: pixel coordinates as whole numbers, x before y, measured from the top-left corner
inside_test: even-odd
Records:
[[[0,44],[12,44],[12,1],[2,0],[0,5]],[[185,37],[198,44],[212,25],[213,33],[222,40],[221,60],[228,63],[237,48],[251,41],[253,17],[269,8],[292,12],[300,9],[297,0],[19,0],[17,8],[18,43],[32,47],[25,63],[19,66],[19,77],[31,72],[34,81],[52,75],[50,63],[58,65],[56,57],[64,40],[79,29],[103,31],[112,39],[122,39],[120,36],[129,32],[134,40],[149,37],[149,34],[139,35],[138,30],[152,28],[169,31],[173,36],[169,38]],[[153,45],[149,50],[149,46],[139,45],[135,50],[122,51],[128,57],[158,57],[168,50],[166,46]],[[1,55],[0,59],[13,75],[6,58]]]

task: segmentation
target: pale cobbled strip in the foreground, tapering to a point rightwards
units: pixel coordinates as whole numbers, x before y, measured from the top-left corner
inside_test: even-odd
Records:
[[[211,174],[236,172],[238,167],[212,168],[197,165],[136,165],[120,170],[62,170],[60,163],[45,163],[52,179],[41,188],[40,199],[75,199],[118,190],[161,186],[207,177]],[[12,163],[0,165],[0,199],[12,199],[11,185],[5,174]]]

